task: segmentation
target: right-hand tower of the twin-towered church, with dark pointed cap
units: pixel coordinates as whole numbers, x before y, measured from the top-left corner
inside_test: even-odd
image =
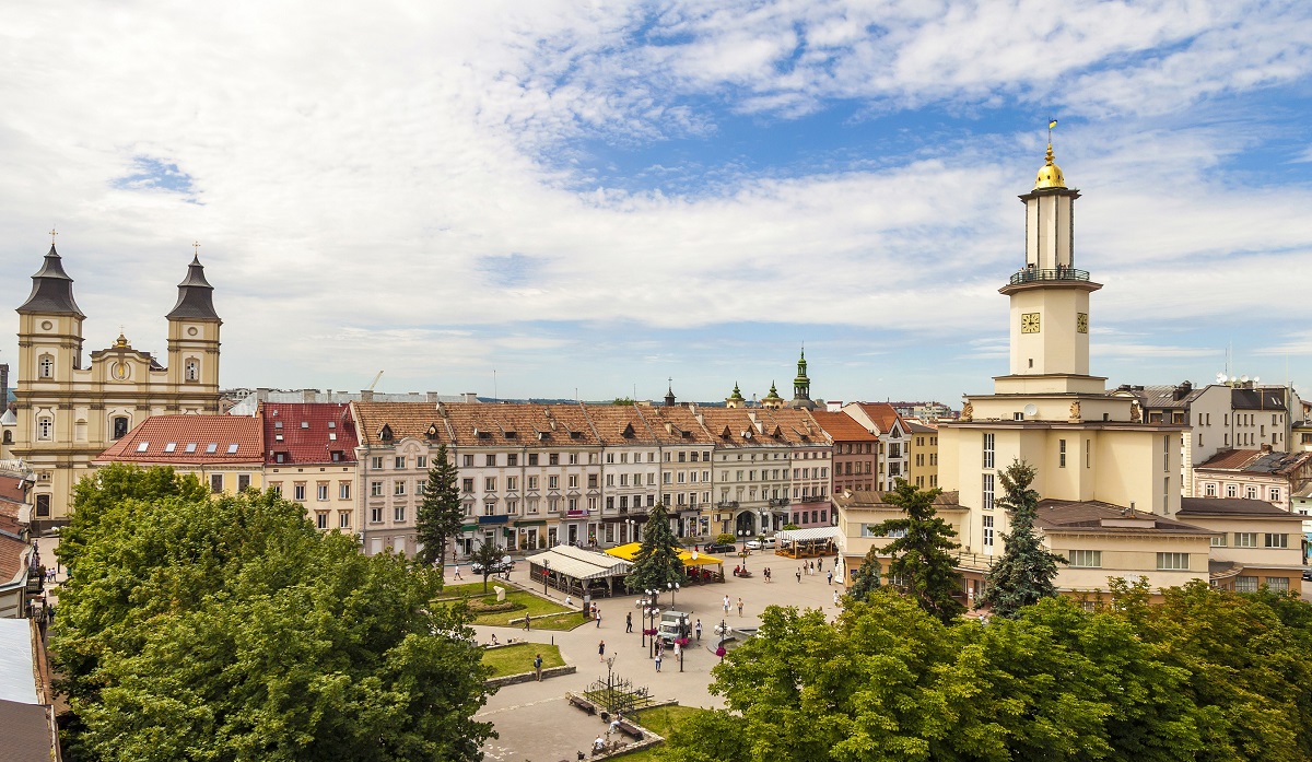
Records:
[[[205,279],[199,256],[193,256],[186,278],[177,285],[177,304],[168,317],[169,383],[188,387],[219,387],[219,327],[214,311],[214,286]]]

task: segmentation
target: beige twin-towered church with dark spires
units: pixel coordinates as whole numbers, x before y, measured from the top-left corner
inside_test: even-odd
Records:
[[[35,473],[34,529],[63,523],[72,488],[94,460],[150,416],[216,413],[219,328],[214,289],[193,258],[168,312],[167,367],[119,334],[83,354],[85,316],[72,278],[50,247],[18,307],[13,458]]]

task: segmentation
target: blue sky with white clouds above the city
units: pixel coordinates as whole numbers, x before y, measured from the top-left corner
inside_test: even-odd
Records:
[[[1299,1],[7,3],[0,304],[54,228],[88,354],[198,252],[223,387],[959,407],[1056,118],[1092,372],[1312,396],[1309,115]]]

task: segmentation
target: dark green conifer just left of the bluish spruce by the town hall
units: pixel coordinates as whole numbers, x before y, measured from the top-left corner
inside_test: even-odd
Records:
[[[951,551],[960,546],[953,538],[956,530],[938,517],[934,498],[942,494],[937,487],[917,489],[905,479],[884,494],[884,502],[903,509],[905,518],[890,518],[875,525],[875,534],[893,536],[883,547],[891,556],[888,572],[901,578],[907,593],[921,609],[949,623],[966,612],[966,606],[954,598],[962,589],[962,574],[954,568]]]

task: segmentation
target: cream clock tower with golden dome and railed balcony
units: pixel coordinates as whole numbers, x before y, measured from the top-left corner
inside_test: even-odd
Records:
[[[996,393],[1101,393],[1106,379],[1089,375],[1089,294],[1102,289],[1075,266],[1075,201],[1061,168],[1047,161],[1025,203],[1025,266],[1000,291],[1012,300],[1010,375]]]

